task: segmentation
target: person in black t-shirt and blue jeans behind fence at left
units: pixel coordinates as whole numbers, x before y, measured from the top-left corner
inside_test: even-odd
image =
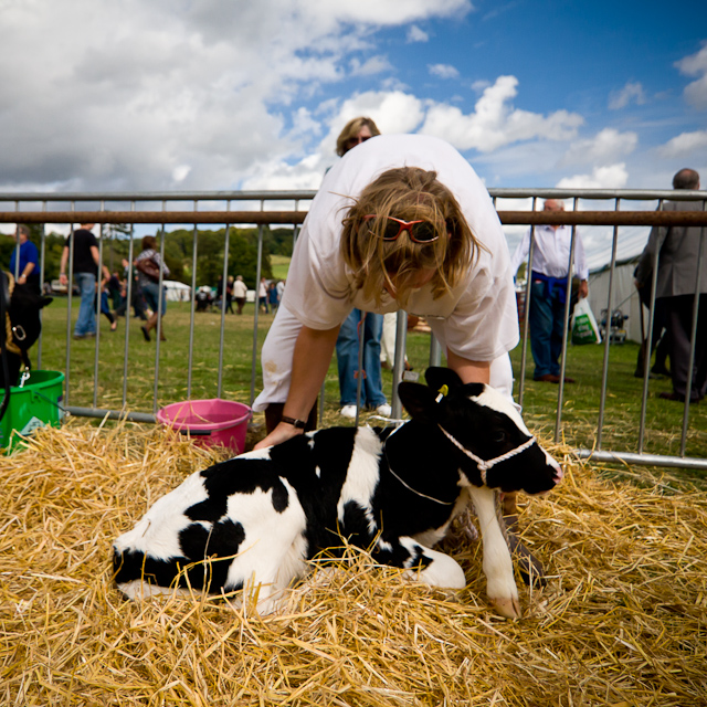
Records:
[[[96,277],[98,275],[98,241],[92,233],[95,223],[82,223],[80,229],[70,233],[62,252],[59,279],[62,285],[68,284],[66,266],[71,242],[74,242],[73,274],[74,282],[81,293],[78,317],[74,326],[74,339],[96,336]]]

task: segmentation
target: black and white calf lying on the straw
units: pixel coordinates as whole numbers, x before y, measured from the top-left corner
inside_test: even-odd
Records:
[[[426,380],[400,384],[412,420],[394,431],[318,430],[189,476],[115,541],[118,588],[136,599],[260,584],[257,608],[267,612],[307,560],[336,552],[344,537],[414,579],[462,589],[458,563],[430,548],[471,499],[488,595],[503,615],[519,615],[494,489],[548,492],[560,466],[494,389],[443,368]]]

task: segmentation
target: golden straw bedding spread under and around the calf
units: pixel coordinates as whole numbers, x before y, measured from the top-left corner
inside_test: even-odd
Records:
[[[113,539],[217,458],[161,430],[75,421],[1,458],[1,704],[707,705],[704,489],[567,460],[520,516],[552,578],[521,589],[518,622],[489,612],[481,548],[462,535],[447,541],[469,581],[458,597],[351,550],[277,615],[125,601]]]

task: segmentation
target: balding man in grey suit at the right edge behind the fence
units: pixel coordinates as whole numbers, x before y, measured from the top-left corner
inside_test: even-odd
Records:
[[[673,178],[674,189],[699,189],[699,175],[694,169],[680,169]],[[703,211],[701,201],[666,201],[663,211]],[[703,226],[653,226],[648,242],[636,267],[636,286],[647,284],[657,261],[656,300],[665,306],[665,326],[671,346],[673,392],[661,398],[683,402],[699,402],[707,392],[707,242]],[[696,293],[699,260],[699,291]],[[688,371],[692,349],[693,312],[698,307],[695,360]]]

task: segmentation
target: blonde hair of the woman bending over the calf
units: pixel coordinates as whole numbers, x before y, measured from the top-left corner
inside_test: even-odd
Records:
[[[369,214],[377,218],[366,220]],[[388,217],[428,221],[439,238],[415,243],[404,231],[397,240],[384,241]],[[354,271],[357,289],[378,305],[388,285],[404,306],[419,286],[423,270],[435,271],[431,279],[435,299],[450,293],[468,272],[481,247],[454,194],[437,181],[435,171],[419,167],[383,172],[363,189],[344,219],[341,254]]]

